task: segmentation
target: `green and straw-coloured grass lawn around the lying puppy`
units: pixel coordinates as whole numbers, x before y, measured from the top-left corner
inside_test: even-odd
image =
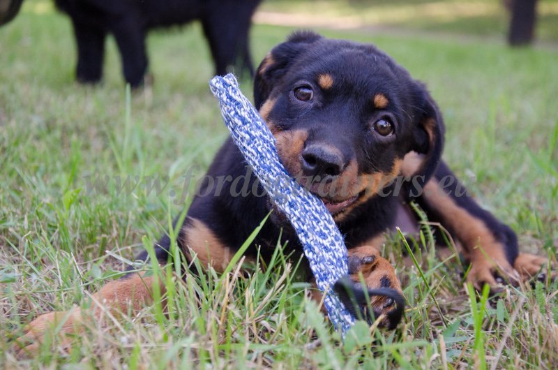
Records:
[[[209,93],[212,66],[198,24],[149,36],[155,83],[127,99],[113,40],[105,82],[79,86],[70,22],[41,4],[26,3],[0,29],[1,367],[558,366],[557,283],[508,288],[487,302],[463,286],[458,258],[435,258],[428,229],[416,266],[403,265],[399,242],[384,250],[408,302],[394,332],[359,323],[340,345],[308,299],[308,285],[292,274],[296,261],[278,249],[265,269],[251,266],[248,274],[232,265],[223,276],[169,279],[168,316],[160,304],[120,321],[105,316],[92,320],[70,350],[53,339],[37,357],[15,358],[10,340],[22,325],[39,313],[91,304],[92,292],[158,239],[191,200],[181,196],[183,175],[197,165],[202,177],[227,135]],[[255,27],[255,59],[289,31]],[[518,232],[524,251],[555,256],[558,52],[460,38],[324,34],[376,43],[428,82],[446,119],[448,163]],[[250,91],[249,81],[243,90]],[[122,183],[88,184],[103,176]],[[138,185],[123,191],[127,178]],[[160,191],[147,191],[153,179],[161,179]]]

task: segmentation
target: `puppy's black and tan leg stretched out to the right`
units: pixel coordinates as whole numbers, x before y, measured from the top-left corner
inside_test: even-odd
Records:
[[[420,162],[412,156],[416,154],[405,157],[404,172],[405,168],[409,169],[409,163]],[[520,254],[515,232],[479,207],[443,162],[417,201],[429,219],[442,223],[458,239],[465,258],[471,263],[467,279],[479,290],[487,283],[495,293],[502,290],[503,280],[518,283],[548,265],[546,258]]]

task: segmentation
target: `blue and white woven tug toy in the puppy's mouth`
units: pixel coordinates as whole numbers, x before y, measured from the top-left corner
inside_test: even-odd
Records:
[[[345,333],[354,318],[331,289],[347,275],[347,248],[324,203],[289,176],[280,162],[276,140],[254,106],[243,96],[232,73],[209,82],[237,147],[267,194],[287,215],[310,262],[335,329]]]

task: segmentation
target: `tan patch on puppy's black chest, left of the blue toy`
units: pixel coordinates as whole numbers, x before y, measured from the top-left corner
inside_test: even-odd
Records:
[[[234,256],[234,251],[213,234],[202,221],[190,218],[190,225],[184,230],[184,245],[196,253],[204,266],[211,266],[217,272],[225,271]]]

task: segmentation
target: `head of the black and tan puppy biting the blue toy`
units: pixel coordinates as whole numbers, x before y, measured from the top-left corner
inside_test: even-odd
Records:
[[[283,165],[340,221],[424,154],[423,184],[442,154],[444,126],[423,84],[372,45],[299,32],[259,65],[255,104]]]

